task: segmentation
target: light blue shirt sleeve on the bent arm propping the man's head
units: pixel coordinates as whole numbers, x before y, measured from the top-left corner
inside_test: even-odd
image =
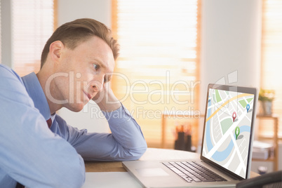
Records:
[[[114,112],[103,112],[112,133],[87,133],[67,126],[67,140],[86,161],[128,161],[139,159],[147,149],[140,126],[123,105]]]

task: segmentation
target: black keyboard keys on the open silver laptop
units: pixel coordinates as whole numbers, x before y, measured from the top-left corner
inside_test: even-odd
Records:
[[[226,181],[208,168],[194,161],[164,162],[165,166],[177,173],[187,182],[222,182]]]

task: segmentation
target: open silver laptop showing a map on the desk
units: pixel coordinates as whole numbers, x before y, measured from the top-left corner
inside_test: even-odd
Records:
[[[235,187],[250,177],[257,88],[208,85],[201,157],[124,161],[144,187]]]

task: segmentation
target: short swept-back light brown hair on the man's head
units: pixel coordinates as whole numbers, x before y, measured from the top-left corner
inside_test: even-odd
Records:
[[[41,54],[41,67],[46,62],[51,43],[61,41],[67,48],[74,49],[92,36],[98,36],[112,49],[114,60],[119,56],[119,44],[112,37],[112,31],[106,25],[90,18],[77,19],[58,27],[46,42]]]

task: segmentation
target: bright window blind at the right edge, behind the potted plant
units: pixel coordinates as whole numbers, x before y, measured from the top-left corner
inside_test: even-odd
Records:
[[[282,137],[282,1],[262,2],[261,87],[275,90],[273,113],[279,116],[278,136]],[[272,126],[267,126],[262,132],[271,136]]]

